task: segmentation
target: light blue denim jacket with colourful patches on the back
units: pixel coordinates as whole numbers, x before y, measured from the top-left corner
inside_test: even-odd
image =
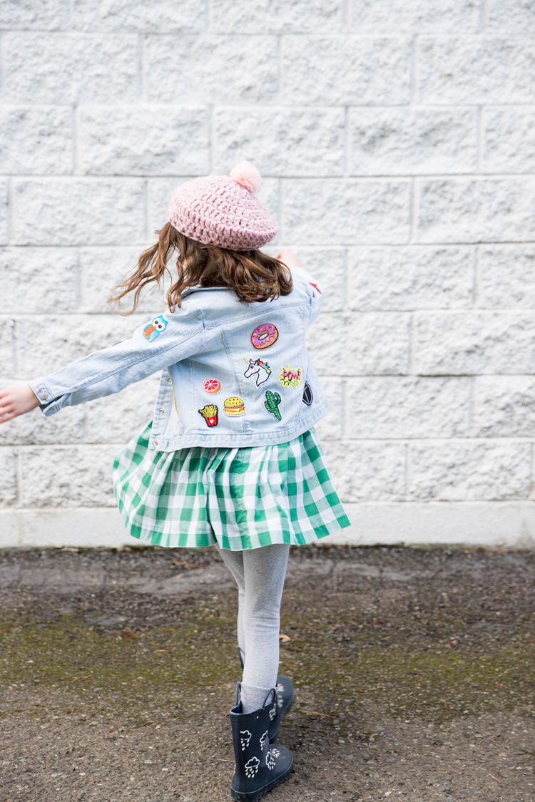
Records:
[[[225,288],[188,290],[180,309],[140,326],[132,339],[95,351],[30,383],[45,415],[163,369],[149,448],[286,443],[326,415],[306,330],[322,291],[294,270],[290,295],[239,302]]]

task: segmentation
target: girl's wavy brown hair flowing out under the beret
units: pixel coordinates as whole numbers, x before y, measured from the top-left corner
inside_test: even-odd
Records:
[[[121,314],[135,312],[144,288],[155,282],[161,286],[166,274],[172,280],[166,294],[172,312],[182,306],[181,296],[188,287],[227,287],[245,302],[269,301],[292,291],[292,277],[286,265],[259,250],[233,251],[218,245],[203,245],[181,234],[171,223],[155,233],[158,241],[141,254],[132,275],[111,294],[109,302],[113,303],[134,292],[132,309]],[[168,267],[173,253],[176,253],[176,277]]]

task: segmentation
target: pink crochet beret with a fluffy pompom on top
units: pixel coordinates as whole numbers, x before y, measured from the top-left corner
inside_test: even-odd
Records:
[[[253,250],[269,242],[278,225],[253,195],[261,177],[243,161],[230,176],[205,176],[187,181],[172,193],[169,222],[177,231],[205,245]]]

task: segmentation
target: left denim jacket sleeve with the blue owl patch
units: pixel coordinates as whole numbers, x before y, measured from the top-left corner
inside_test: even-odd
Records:
[[[205,326],[201,310],[184,304],[139,326],[129,340],[95,351],[59,371],[30,382],[45,415],[63,407],[118,393],[168,365],[202,350]]]

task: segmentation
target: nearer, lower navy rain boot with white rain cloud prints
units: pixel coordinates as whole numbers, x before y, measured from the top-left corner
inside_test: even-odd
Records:
[[[290,776],[294,758],[286,747],[270,744],[268,730],[276,711],[275,689],[271,689],[258,710],[242,713],[241,701],[238,702],[240,687],[237,683],[236,707],[229,712],[235,759],[230,796],[238,802],[257,802]],[[270,696],[272,701],[268,705]]]

